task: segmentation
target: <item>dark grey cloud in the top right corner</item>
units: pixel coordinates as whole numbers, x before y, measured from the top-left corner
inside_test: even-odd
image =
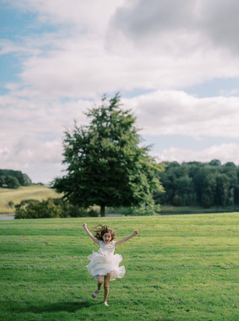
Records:
[[[234,0],[133,0],[117,8],[111,28],[121,30],[136,44],[149,38],[157,44],[165,34],[170,36],[168,43],[175,35],[199,35],[216,47],[238,49],[238,10],[239,3]]]

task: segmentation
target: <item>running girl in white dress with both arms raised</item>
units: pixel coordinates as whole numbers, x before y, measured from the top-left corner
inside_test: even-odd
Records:
[[[87,257],[91,261],[86,265],[88,272],[98,281],[97,289],[92,293],[92,297],[96,298],[104,281],[104,305],[109,306],[107,303],[109,283],[116,278],[122,278],[125,274],[124,265],[119,266],[122,261],[122,256],[120,254],[114,255],[115,247],[137,235],[138,230],[135,230],[133,234],[126,236],[120,241],[115,242],[113,241],[115,238],[115,231],[111,230],[107,225],[99,224],[93,228],[93,231],[95,232],[94,236],[87,229],[85,223],[83,224],[83,227],[89,237],[100,246],[99,252],[93,251],[93,254]]]

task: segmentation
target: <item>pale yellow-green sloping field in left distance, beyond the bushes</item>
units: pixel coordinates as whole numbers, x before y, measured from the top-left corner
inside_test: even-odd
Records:
[[[47,186],[21,186],[17,189],[0,188],[0,213],[14,213],[15,208],[8,206],[9,202],[14,205],[19,204],[22,200],[35,199],[42,201],[48,197],[60,197],[53,189]]]

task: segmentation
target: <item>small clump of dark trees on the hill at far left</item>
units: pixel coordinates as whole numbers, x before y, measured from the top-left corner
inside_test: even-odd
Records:
[[[18,188],[31,185],[31,179],[20,170],[0,169],[0,187]]]

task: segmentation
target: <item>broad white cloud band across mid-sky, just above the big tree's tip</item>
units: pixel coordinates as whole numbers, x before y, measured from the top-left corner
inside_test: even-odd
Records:
[[[102,39],[95,37],[52,39],[53,44],[54,41],[56,48],[44,55],[25,56],[23,60],[20,85],[29,86],[29,95],[33,91],[49,99],[95,99],[105,92],[182,88],[213,77],[239,76],[239,69],[235,68],[239,59],[225,50],[209,48],[189,56],[175,56],[134,48],[125,55],[124,43],[120,44],[121,50],[112,52],[105,48]],[[63,44],[58,48],[60,42]]]

